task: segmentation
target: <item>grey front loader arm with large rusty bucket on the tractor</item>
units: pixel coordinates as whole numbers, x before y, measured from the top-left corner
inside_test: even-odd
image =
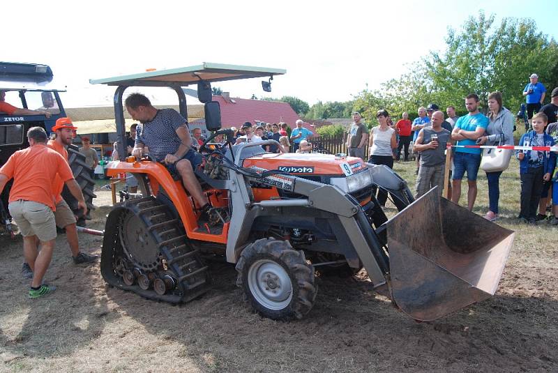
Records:
[[[250,231],[258,209],[306,206],[336,214],[374,287],[384,294],[387,285],[391,300],[421,321],[438,319],[495,294],[513,243],[513,231],[442,199],[433,188],[386,222],[386,252],[361,206],[335,185],[281,173],[262,178],[233,174],[239,187],[246,185],[247,196],[250,181],[302,196],[252,202],[234,210],[232,221],[241,222],[240,231]],[[236,229],[229,234],[232,231]],[[474,239],[464,241],[467,234]],[[228,242],[227,259],[236,261],[243,236],[229,238],[236,241]]]

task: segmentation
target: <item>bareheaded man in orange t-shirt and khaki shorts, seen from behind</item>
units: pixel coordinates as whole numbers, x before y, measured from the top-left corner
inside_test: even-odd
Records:
[[[27,140],[29,148],[13,153],[8,162],[0,168],[0,192],[13,178],[8,209],[20,228],[24,256],[33,270],[29,298],[39,298],[56,289],[43,284],[56,239],[53,213],[56,205],[52,198],[52,180],[56,174],[68,185],[68,189],[77,199],[77,205],[84,211],[87,211],[87,206],[68,162],[46,146],[45,130],[40,127],[29,128]],[[37,239],[40,241],[40,252],[36,249]]]

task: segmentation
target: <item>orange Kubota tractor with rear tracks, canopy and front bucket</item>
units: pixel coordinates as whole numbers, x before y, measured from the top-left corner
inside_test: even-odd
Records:
[[[197,84],[206,127],[216,131],[200,149],[204,166],[195,170],[213,206],[208,221],[199,220],[199,206],[164,165],[123,156],[109,165],[109,175],[135,175],[143,197],[107,216],[105,281],[146,298],[186,302],[209,289],[202,257],[221,256],[236,264],[236,284],[252,307],[282,320],[310,312],[315,271],[350,274],[363,267],[377,291],[417,320],[437,319],[494,294],[513,231],[443,199],[437,189],[413,201],[405,181],[360,158],[266,153],[262,145],[273,140],[233,145],[232,131],[220,130],[211,82],[283,73],[204,63],[91,80],[117,86],[119,154],[125,154],[122,97],[128,86],[171,87],[187,117],[182,87]],[[212,141],[217,135],[224,135],[224,144]],[[389,190],[400,209],[395,217],[387,220],[373,187]]]

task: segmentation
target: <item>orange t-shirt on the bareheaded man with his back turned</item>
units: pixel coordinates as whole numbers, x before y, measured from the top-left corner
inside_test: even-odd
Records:
[[[0,168],[0,174],[13,178],[8,201],[35,201],[56,210],[52,181],[59,174],[62,181],[73,178],[68,162],[43,144],[16,151]]]

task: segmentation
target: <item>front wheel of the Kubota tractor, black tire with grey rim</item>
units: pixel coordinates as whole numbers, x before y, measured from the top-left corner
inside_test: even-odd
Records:
[[[236,285],[262,316],[289,321],[312,310],[317,294],[314,268],[288,241],[262,238],[248,245],[236,271]]]

